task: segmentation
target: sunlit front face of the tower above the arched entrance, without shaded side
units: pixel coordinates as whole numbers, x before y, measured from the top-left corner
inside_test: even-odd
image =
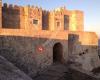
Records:
[[[49,16],[49,30],[51,31],[56,31],[56,30],[60,30],[63,31],[64,30],[64,14],[63,14],[63,8],[57,8],[54,11],[50,12],[50,16]]]

